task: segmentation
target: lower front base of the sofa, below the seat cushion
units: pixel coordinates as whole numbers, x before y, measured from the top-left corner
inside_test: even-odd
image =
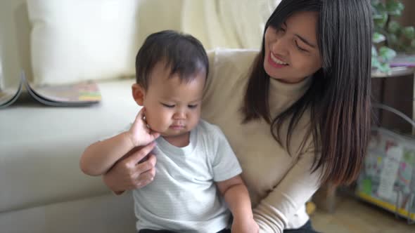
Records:
[[[0,229],[6,233],[133,233],[133,203],[127,192],[0,212]]]

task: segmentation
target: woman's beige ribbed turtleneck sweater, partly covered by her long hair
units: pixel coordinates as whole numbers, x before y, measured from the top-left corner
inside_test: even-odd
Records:
[[[263,120],[242,124],[241,105],[248,74],[258,51],[216,50],[208,53],[210,70],[203,96],[202,118],[219,126],[243,168],[242,177],[253,203],[260,232],[283,232],[307,222],[305,202],[319,186],[319,172],[311,173],[311,138],[300,150],[309,115],[303,115],[291,138],[290,152],[281,147]],[[279,114],[298,100],[311,79],[298,84],[270,81],[269,104]],[[286,131],[286,125],[283,126]]]

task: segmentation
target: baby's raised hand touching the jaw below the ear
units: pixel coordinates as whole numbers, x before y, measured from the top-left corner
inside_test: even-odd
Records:
[[[134,147],[147,145],[160,136],[160,133],[155,133],[147,127],[146,121],[143,119],[145,111],[146,109],[144,107],[141,108],[139,114],[137,114],[136,119],[134,120],[134,123],[127,132],[127,135],[132,140]]]

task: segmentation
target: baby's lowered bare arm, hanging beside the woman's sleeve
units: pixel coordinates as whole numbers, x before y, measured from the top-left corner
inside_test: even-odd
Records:
[[[241,176],[236,175],[229,180],[217,182],[217,187],[234,216],[232,232],[258,232],[259,227],[253,219],[248,189]]]

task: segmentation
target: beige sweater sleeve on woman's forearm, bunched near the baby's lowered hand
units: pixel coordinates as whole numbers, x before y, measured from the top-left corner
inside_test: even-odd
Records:
[[[321,169],[311,173],[313,159],[314,152],[302,154],[283,180],[253,209],[260,233],[282,233],[288,219],[317,191]]]

